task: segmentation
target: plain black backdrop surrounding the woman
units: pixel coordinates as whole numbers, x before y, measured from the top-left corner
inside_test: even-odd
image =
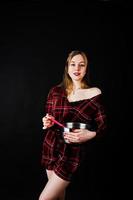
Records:
[[[91,82],[103,91],[108,129],[101,143],[91,146],[67,199],[123,196],[125,147],[130,149],[131,5],[98,1],[59,8],[56,3],[10,1],[0,4],[0,13],[2,199],[36,200],[47,180],[40,165],[44,104],[74,49],[89,55]]]

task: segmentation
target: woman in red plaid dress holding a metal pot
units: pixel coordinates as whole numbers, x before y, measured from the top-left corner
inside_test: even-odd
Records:
[[[78,128],[63,133],[53,119],[61,124],[95,121],[97,129]],[[64,200],[65,189],[83,162],[87,141],[102,135],[106,127],[102,92],[89,86],[88,59],[84,52],[72,51],[68,55],[63,81],[51,88],[42,121],[45,129],[42,165],[48,182],[39,200]]]

